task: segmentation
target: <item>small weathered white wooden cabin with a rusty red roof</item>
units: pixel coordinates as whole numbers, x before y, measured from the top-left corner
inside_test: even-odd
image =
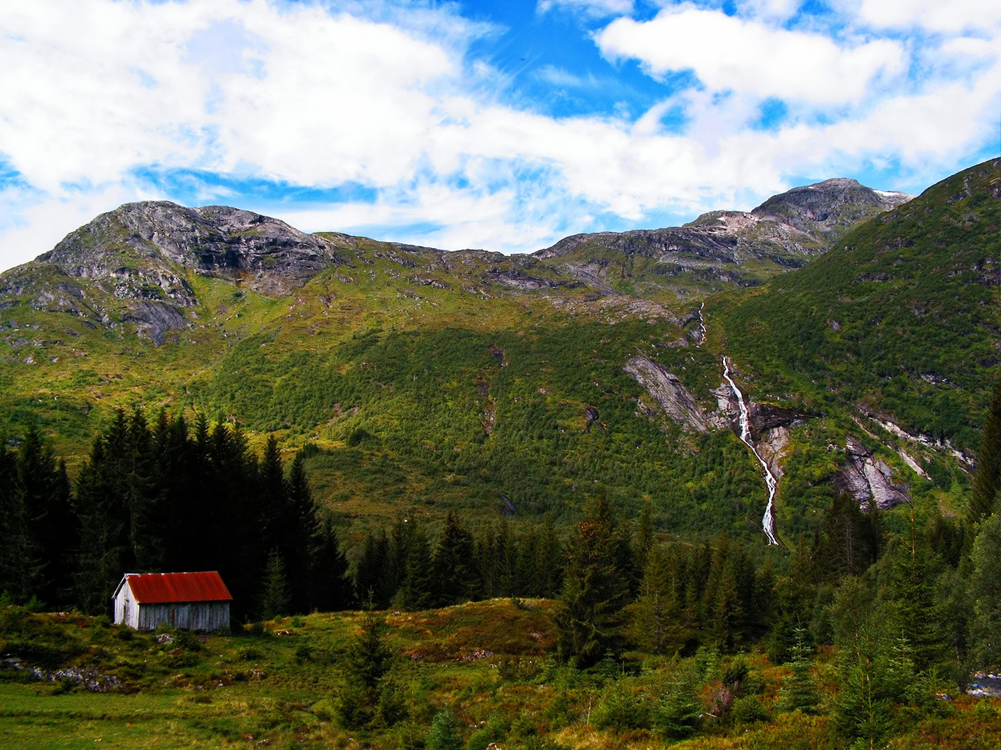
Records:
[[[216,571],[126,573],[112,597],[115,624],[155,630],[166,623],[182,630],[211,632],[229,627],[233,600]]]

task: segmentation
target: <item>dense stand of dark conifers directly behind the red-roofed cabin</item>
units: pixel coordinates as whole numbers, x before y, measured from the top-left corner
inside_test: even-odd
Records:
[[[348,606],[347,560],[297,455],[226,424],[119,410],[75,483],[38,430],[0,450],[0,590],[110,609],[126,572],[217,570],[239,619]],[[293,585],[294,584],[294,585]]]

